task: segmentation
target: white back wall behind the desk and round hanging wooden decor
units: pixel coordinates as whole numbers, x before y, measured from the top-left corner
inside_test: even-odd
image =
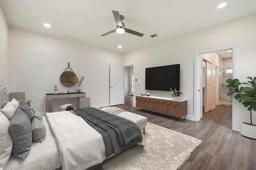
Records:
[[[122,65],[122,55],[72,41],[9,27],[8,91],[26,92],[32,108],[45,112],[45,94],[59,90],[76,92],[77,85],[63,86],[60,75],[70,67],[79,77],[85,76],[82,92],[91,106],[109,104],[109,66]],[[53,111],[73,100],[54,100]]]

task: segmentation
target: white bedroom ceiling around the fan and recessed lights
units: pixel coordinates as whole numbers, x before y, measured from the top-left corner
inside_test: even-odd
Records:
[[[218,9],[222,2],[227,6]],[[118,53],[256,12],[256,0],[0,0],[0,4],[12,27],[62,39],[72,35],[83,39],[75,42]],[[126,28],[144,36],[116,32],[100,36],[116,28],[112,10],[124,15]],[[158,36],[151,38],[152,34]]]

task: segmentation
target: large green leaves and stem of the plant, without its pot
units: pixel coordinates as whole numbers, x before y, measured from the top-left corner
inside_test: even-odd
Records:
[[[229,78],[226,80],[228,83],[227,87],[232,88],[231,92],[228,95],[237,93],[234,98],[238,100],[238,102],[242,102],[244,107],[248,107],[247,110],[250,111],[251,115],[251,123],[252,124],[252,110],[256,111],[256,77],[247,77],[250,80],[247,82],[240,83],[238,79],[231,79]],[[248,86],[240,86],[241,84],[246,84]]]

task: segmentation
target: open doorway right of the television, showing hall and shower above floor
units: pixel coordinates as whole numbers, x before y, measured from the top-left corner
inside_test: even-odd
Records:
[[[226,80],[233,78],[232,49],[202,54],[202,110],[207,113],[216,105],[232,106]]]

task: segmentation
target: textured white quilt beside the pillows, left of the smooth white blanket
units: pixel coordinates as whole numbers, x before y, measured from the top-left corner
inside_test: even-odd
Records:
[[[11,154],[3,170],[55,170],[61,167],[60,153],[45,117],[43,123],[46,128],[44,142],[32,142],[24,160]]]

